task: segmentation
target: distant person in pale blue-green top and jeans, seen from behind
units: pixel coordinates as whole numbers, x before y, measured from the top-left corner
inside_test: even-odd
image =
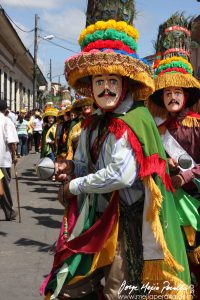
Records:
[[[17,144],[17,157],[27,155],[27,142],[28,142],[28,122],[25,120],[26,110],[22,109],[19,118],[16,122],[16,129],[19,138]]]

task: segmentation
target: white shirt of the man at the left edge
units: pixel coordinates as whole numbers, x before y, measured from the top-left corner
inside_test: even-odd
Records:
[[[8,148],[10,143],[18,143],[18,135],[14,123],[0,112],[0,167],[10,168],[12,156]]]

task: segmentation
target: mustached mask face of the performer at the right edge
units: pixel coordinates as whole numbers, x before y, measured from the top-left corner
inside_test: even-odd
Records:
[[[182,88],[168,87],[163,90],[165,108],[169,112],[179,112],[185,105],[185,96]]]

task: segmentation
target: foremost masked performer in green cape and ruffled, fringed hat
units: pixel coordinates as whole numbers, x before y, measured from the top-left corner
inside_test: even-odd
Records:
[[[46,299],[143,296],[148,286],[190,299],[166,155],[143,101],[154,92],[153,74],[137,39],[125,21],[98,21],[65,63],[69,85],[92,94],[98,110],[83,124],[74,160],[57,165],[58,179],[69,180],[59,191],[68,214],[41,287]]]

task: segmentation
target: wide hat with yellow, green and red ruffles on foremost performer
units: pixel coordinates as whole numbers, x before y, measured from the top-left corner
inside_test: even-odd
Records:
[[[78,93],[91,96],[91,76],[116,74],[130,79],[136,96],[154,92],[150,66],[137,55],[138,31],[125,21],[98,21],[79,37],[82,52],[65,62],[65,76]]]

